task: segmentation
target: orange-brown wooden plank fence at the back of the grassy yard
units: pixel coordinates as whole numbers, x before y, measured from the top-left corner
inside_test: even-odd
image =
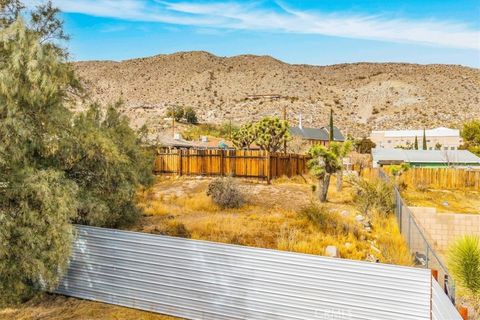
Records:
[[[260,150],[172,150],[155,159],[156,174],[205,175],[270,180],[307,172],[308,157]]]

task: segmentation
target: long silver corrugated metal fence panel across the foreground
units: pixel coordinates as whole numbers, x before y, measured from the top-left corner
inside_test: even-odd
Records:
[[[429,270],[78,226],[58,293],[188,319],[431,319]]]

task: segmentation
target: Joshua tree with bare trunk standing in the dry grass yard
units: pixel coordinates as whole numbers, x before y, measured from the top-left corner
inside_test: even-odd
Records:
[[[333,144],[333,143],[332,143]],[[342,169],[342,163],[337,153],[322,145],[314,145],[308,150],[311,159],[307,165],[311,173],[318,179],[319,198],[327,201],[328,187],[332,174]]]

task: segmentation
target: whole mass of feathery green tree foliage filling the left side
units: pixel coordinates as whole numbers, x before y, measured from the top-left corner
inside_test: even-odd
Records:
[[[21,19],[0,30],[0,303],[53,288],[71,222],[133,221],[135,190],[152,178],[151,158],[118,110],[73,117],[78,81],[41,36]]]

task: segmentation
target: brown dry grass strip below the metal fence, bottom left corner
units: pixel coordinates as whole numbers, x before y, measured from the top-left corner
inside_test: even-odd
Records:
[[[0,320],[175,320],[180,318],[105,303],[44,294],[0,310]]]

